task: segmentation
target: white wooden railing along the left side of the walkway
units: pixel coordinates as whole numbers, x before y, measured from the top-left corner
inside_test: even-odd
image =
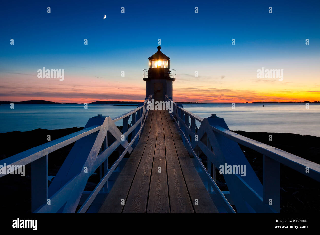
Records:
[[[9,165],[12,167],[31,164],[32,212],[85,213],[124,155],[127,152],[131,153],[138,143],[148,115],[147,102],[151,100],[150,95],[136,109],[113,119],[101,115],[92,117],[83,130],[5,158],[0,161],[0,165],[6,164],[7,167]],[[131,123],[128,125],[130,117]],[[120,131],[115,122],[121,120],[123,128]],[[108,137],[111,141],[110,139],[108,141]],[[74,146],[48,187],[48,154],[73,142]],[[108,157],[116,149],[120,151],[120,156],[108,168]],[[77,210],[89,176],[98,168],[100,168],[100,182]],[[104,175],[101,172],[104,172]],[[0,177],[5,175],[0,174]]]

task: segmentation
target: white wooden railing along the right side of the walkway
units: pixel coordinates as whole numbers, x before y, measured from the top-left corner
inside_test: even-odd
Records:
[[[166,101],[173,102],[168,96]],[[231,166],[237,171],[241,166],[243,168],[246,166],[245,175],[239,172],[236,174],[236,171],[229,174],[227,169],[223,171],[227,173],[223,174],[223,177],[229,190],[224,191],[223,195],[231,205],[236,206],[237,212],[244,213],[280,212],[280,163],[320,182],[319,164],[238,135],[229,130],[223,118],[215,114],[208,118],[201,118],[175,102],[173,102],[173,112],[169,114],[177,122],[183,143],[188,152],[195,157],[196,167],[202,172],[199,175],[204,176],[202,180],[221,212],[225,208],[225,203],[224,197],[219,195],[220,189],[215,182],[215,168],[221,170]],[[196,121],[200,123],[199,127]],[[263,184],[238,143],[263,154]],[[199,158],[200,151],[207,157],[207,168]]]

